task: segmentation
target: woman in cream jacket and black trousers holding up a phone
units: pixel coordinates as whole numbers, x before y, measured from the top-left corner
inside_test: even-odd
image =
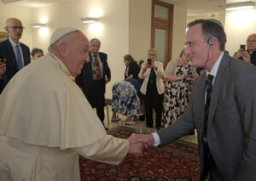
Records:
[[[156,56],[157,52],[154,48],[148,49],[148,60],[143,63],[138,77],[143,79],[141,93],[143,93],[147,127],[153,127],[152,110],[154,108],[155,127],[160,129],[162,101],[165,93],[163,82],[165,71],[163,64],[155,60]]]

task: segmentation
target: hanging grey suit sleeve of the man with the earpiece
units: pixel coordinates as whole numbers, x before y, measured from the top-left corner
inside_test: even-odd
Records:
[[[247,69],[236,83],[236,100],[244,129],[245,145],[236,180],[254,180],[256,168],[256,82],[255,69]],[[242,145],[241,145],[242,146]]]

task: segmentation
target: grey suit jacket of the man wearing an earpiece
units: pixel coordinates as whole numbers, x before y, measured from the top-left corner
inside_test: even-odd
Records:
[[[212,88],[207,140],[224,180],[255,180],[256,174],[256,67],[232,59],[228,54],[218,67]],[[165,145],[190,133],[198,134],[201,170],[204,167],[202,144],[206,73],[195,82],[192,101],[177,122],[160,130]],[[201,180],[204,180],[201,173]]]

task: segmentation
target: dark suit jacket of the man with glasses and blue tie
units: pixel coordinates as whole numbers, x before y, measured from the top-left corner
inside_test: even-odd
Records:
[[[30,50],[25,44],[21,42],[20,48],[22,49],[24,65],[28,65],[30,63]],[[6,73],[3,79],[0,81],[0,93],[2,93],[3,88],[5,88],[9,80],[15,76],[15,73],[17,73],[19,69],[15,57],[15,52],[11,43],[9,42],[9,38],[3,42],[0,42],[0,49],[3,51],[3,57],[6,59]]]

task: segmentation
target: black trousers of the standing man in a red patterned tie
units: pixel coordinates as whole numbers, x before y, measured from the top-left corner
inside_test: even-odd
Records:
[[[105,103],[105,95],[104,95],[104,85],[102,85],[102,81],[93,80],[90,88],[90,92],[86,93],[86,99],[89,101],[90,106],[92,108],[96,108],[96,113],[99,119],[102,121],[104,125],[104,103]]]

